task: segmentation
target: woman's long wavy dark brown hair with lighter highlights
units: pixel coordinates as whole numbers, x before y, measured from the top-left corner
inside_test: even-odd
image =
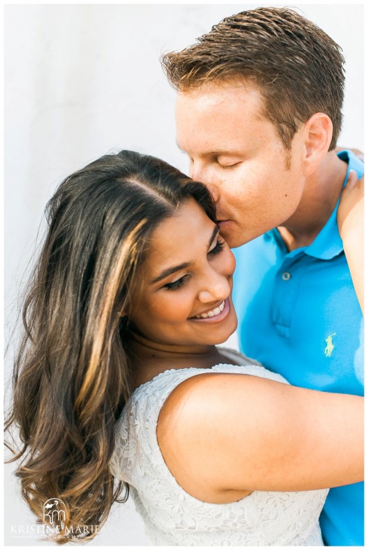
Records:
[[[49,224],[28,282],[24,335],[6,430],[21,449],[21,492],[39,522],[60,499],[51,538],[89,540],[128,486],[109,460],[114,427],[131,393],[130,290],[152,230],[194,198],[209,217],[207,189],[155,157],[105,155],[64,180],[46,206]],[[21,459],[21,460],[20,460]]]

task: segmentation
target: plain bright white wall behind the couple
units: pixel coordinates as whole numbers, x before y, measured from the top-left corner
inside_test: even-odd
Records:
[[[108,151],[136,149],[182,171],[175,144],[175,92],[159,64],[227,15],[277,4],[40,4],[5,6],[6,384],[21,280],[33,255],[44,205],[72,171]],[[279,4],[280,5],[280,4]],[[286,4],[283,4],[286,5]],[[363,148],[363,4],[292,4],[342,46],[346,100],[341,146]],[[236,347],[231,339],[229,345]],[[12,525],[34,519],[5,475],[5,542]],[[148,544],[132,504],[114,506],[89,545]],[[44,544],[42,545],[44,547]]]

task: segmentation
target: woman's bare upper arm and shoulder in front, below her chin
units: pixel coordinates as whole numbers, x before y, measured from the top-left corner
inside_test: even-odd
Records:
[[[166,400],[157,438],[179,485],[207,502],[363,478],[363,398],[229,373],[196,375]]]

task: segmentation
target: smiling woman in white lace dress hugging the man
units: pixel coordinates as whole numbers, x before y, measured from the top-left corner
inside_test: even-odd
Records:
[[[93,538],[128,482],[156,544],[322,544],[326,488],[362,479],[362,398],[215,347],[236,329],[235,264],[207,189],[121,151],[46,214],[8,428],[53,538]],[[62,514],[45,516],[50,498]]]

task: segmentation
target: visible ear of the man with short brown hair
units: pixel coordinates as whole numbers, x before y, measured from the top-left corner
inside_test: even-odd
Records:
[[[304,126],[305,175],[315,171],[324,159],[331,144],[333,124],[327,114],[316,112]]]

